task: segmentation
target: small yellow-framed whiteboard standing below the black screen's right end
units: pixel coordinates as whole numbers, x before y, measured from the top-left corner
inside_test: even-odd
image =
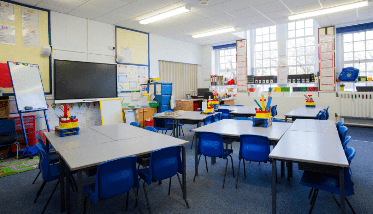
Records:
[[[101,100],[100,110],[102,125],[124,123],[120,99]]]

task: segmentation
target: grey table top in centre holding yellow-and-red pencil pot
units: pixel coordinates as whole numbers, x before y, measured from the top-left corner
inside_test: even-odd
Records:
[[[239,137],[242,134],[254,134],[266,136],[270,140],[278,141],[281,139],[282,135],[286,132],[287,128],[290,127],[291,124],[273,122],[272,125],[268,128],[253,127],[252,125],[253,121],[224,119],[218,122],[204,125],[199,128],[195,128],[192,130],[192,132],[207,131],[220,133],[224,136],[234,137]]]

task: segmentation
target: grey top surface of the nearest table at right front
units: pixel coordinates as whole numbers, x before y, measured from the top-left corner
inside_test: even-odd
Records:
[[[349,167],[338,134],[286,131],[270,158]]]

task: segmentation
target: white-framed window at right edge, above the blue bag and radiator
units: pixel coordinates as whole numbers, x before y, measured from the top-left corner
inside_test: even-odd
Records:
[[[355,67],[359,76],[373,77],[373,30],[342,35],[343,67]]]

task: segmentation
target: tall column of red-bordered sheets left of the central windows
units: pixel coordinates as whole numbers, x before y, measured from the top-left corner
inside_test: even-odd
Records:
[[[246,39],[236,41],[237,49],[237,91],[247,91]]]

